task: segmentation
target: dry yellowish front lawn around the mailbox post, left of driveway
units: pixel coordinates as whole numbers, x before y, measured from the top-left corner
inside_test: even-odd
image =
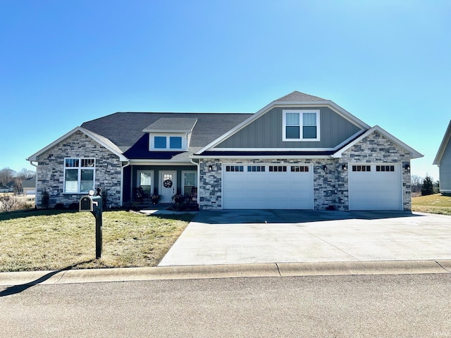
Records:
[[[104,211],[95,259],[95,218],[75,211],[0,213],[0,272],[156,266],[192,215]]]

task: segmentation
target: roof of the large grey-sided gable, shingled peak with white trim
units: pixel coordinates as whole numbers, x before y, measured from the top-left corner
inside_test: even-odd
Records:
[[[235,126],[233,129],[228,130],[225,134],[222,134],[220,137],[215,139],[213,142],[207,144],[202,149],[197,151],[195,154],[199,155],[202,154],[204,151],[209,151],[214,146],[220,144],[228,137],[232,136],[233,134],[239,132],[247,125],[251,124],[254,120],[257,120],[261,115],[264,115],[265,113],[268,113],[268,111],[271,111],[272,108],[277,106],[295,106],[295,107],[318,107],[318,106],[327,106],[331,110],[335,111],[335,113],[338,113],[338,115],[342,116],[342,118],[345,118],[346,120],[349,120],[354,125],[357,125],[362,131],[368,130],[369,125],[364,123],[359,118],[352,115],[350,112],[346,111],[345,109],[338,106],[338,104],[335,104],[333,101],[321,99],[318,96],[312,96],[309,94],[304,94],[301,92],[292,92],[288,95],[282,96],[280,99],[277,99],[276,101],[272,101],[271,104],[268,104],[264,108],[261,108],[257,113],[254,113],[253,115],[249,116],[247,120],[243,121],[239,125]]]

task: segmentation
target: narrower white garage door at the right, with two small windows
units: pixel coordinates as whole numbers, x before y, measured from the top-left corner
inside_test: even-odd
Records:
[[[402,210],[400,163],[349,165],[350,210]]]

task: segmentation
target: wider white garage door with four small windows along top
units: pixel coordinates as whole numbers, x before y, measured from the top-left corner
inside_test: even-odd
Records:
[[[311,165],[223,165],[225,209],[313,209]]]

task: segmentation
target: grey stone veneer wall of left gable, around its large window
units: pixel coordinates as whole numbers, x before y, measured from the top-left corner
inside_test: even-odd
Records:
[[[40,155],[37,167],[36,205],[42,207],[42,192],[49,192],[49,206],[78,203],[83,194],[64,194],[64,158],[95,158],[95,184],[106,192],[106,207],[121,206],[121,161],[118,156],[94,142],[82,132],[75,132],[63,142]]]

